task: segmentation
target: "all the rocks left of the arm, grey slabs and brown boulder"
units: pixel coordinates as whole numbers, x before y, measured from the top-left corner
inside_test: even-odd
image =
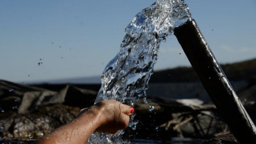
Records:
[[[39,138],[68,123],[97,95],[71,85],[51,91],[8,81],[0,81],[0,91],[0,138],[24,139]]]

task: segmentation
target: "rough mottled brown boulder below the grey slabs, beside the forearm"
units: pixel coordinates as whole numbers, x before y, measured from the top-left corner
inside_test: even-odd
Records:
[[[68,123],[78,112],[79,107],[55,104],[39,107],[38,110],[27,114],[1,114],[0,135],[2,138],[39,138]]]

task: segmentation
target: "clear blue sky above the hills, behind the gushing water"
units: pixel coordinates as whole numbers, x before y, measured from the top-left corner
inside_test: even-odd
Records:
[[[1,0],[0,79],[47,81],[101,75],[119,52],[125,27],[153,2]],[[255,0],[185,3],[219,63],[256,58]],[[155,70],[177,66],[190,63],[177,39],[170,36],[161,44]]]

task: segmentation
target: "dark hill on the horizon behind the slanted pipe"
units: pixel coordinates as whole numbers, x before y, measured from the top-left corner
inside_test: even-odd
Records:
[[[256,59],[221,65],[229,81],[249,80],[256,78]],[[155,71],[150,83],[200,81],[192,67],[177,67]]]

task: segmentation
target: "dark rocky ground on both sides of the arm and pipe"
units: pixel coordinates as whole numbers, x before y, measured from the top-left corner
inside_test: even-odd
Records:
[[[256,87],[249,83],[239,91],[253,120]],[[33,139],[66,124],[81,108],[94,103],[97,91],[72,85],[54,91],[40,87],[0,81],[0,143],[29,144]],[[155,107],[135,102],[136,130],[127,128],[125,139],[151,139],[171,142],[173,138],[208,139],[205,144],[237,144],[215,105],[200,99],[148,97]],[[229,134],[229,135],[227,135]],[[17,139],[18,138],[18,139]]]

